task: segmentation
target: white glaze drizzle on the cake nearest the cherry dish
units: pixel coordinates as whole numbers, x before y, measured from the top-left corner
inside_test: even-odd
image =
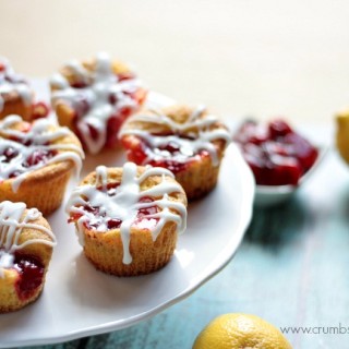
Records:
[[[152,110],[153,113],[139,113],[132,116],[123,125],[119,133],[121,139],[124,135],[134,135],[143,139],[151,145],[153,153],[147,154],[147,158],[142,165],[147,164],[152,159],[160,160],[163,158],[172,158],[179,163],[185,163],[189,157],[195,156],[198,151],[207,151],[212,158],[213,166],[219,165],[219,158],[216,146],[212,143],[216,140],[224,140],[226,146],[230,143],[231,136],[229,132],[224,128],[213,128],[218,119],[213,115],[203,117],[205,112],[204,106],[198,106],[183,123],[176,122],[168,116],[158,110]],[[166,125],[172,131],[172,135],[154,135],[145,130],[137,130],[129,128],[132,122],[146,122],[158,125]],[[197,130],[197,131],[193,131]],[[181,134],[190,136],[181,137]],[[179,146],[180,153],[173,155],[167,151],[159,149],[161,146],[166,146],[169,143],[174,143]]]

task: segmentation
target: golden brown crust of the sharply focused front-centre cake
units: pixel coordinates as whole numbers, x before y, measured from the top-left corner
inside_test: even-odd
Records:
[[[144,172],[144,167],[137,167],[137,174]],[[122,177],[121,168],[108,169],[108,183],[120,183]],[[176,182],[174,179],[167,177],[167,180]],[[160,176],[147,177],[140,185],[141,192],[161,181]],[[89,173],[81,185],[96,183],[96,172]],[[184,191],[169,194],[171,201],[183,203],[186,206],[186,196]],[[76,229],[80,228],[76,226]],[[167,222],[161,229],[159,236],[153,241],[148,229],[131,228],[130,253],[132,255],[131,264],[123,264],[123,244],[120,229],[108,231],[96,231],[87,229],[84,225],[80,233],[84,239],[84,253],[86,257],[99,270],[117,276],[135,276],[149,274],[164,267],[173,255],[177,243],[177,224]]]

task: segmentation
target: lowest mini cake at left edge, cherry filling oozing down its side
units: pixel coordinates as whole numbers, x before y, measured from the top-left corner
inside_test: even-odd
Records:
[[[0,312],[20,310],[43,291],[55,236],[36,208],[0,203]]]

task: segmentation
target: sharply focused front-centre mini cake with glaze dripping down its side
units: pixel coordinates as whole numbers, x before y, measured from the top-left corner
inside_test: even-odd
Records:
[[[186,197],[164,168],[99,166],[67,204],[86,257],[105,273],[142,275],[165,266],[186,224]]]

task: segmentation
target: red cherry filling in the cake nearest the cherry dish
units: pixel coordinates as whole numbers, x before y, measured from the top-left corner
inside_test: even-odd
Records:
[[[193,140],[193,137],[179,136],[180,139]],[[134,141],[136,140],[136,141]],[[154,167],[164,167],[174,174],[188,169],[190,164],[197,159],[209,156],[205,149],[193,154],[183,153],[181,146],[171,141],[159,147],[152,147],[146,141],[140,137],[123,137],[122,145],[127,149],[127,157],[136,165],[152,165]]]

